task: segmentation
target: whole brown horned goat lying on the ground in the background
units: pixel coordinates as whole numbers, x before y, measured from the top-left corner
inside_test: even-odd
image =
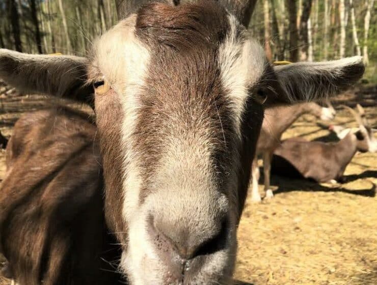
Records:
[[[331,127],[341,138],[337,143],[307,141],[303,138],[286,139],[274,152],[272,172],[288,177],[312,179],[316,182],[336,183],[342,181],[345,167],[357,151],[376,152],[377,140],[366,118],[360,116],[364,114],[362,107],[358,105],[361,113],[344,107],[352,112],[358,122],[357,130],[343,129],[340,126]]]

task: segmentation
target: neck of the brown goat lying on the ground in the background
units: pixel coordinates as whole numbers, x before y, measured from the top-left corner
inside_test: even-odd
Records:
[[[339,161],[339,166],[345,168],[357,152],[357,138],[349,132],[343,139],[334,145],[334,152]]]

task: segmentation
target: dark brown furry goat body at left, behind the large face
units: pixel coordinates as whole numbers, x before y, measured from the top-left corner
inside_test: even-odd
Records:
[[[95,133],[88,115],[64,107],[16,122],[0,185],[0,250],[17,283],[120,284]]]

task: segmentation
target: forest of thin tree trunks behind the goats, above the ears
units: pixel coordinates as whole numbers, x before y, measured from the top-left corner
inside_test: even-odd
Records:
[[[377,2],[258,0],[249,31],[271,61],[362,55],[377,83]],[[83,55],[117,19],[115,0],[0,0],[0,48]]]

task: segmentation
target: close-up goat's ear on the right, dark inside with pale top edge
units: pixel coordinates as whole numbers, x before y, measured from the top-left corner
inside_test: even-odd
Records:
[[[361,56],[329,62],[302,62],[274,67],[279,101],[317,101],[339,94],[364,74]],[[279,94],[283,92],[284,94]]]

